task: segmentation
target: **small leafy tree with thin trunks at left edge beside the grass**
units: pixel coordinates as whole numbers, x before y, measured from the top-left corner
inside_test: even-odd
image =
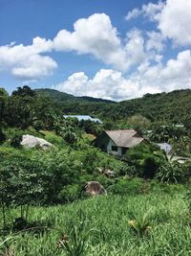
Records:
[[[44,198],[47,185],[47,174],[42,166],[27,158],[15,158],[1,162],[0,166],[0,206],[3,211],[4,227],[6,227],[6,208],[20,207],[20,216],[14,226],[26,223],[31,204]]]

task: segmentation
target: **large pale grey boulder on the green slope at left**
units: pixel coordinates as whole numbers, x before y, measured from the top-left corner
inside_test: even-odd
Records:
[[[29,149],[39,147],[42,150],[47,150],[53,146],[53,144],[51,144],[50,142],[29,134],[23,135],[21,145]]]

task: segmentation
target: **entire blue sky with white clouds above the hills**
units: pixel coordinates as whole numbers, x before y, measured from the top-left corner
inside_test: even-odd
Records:
[[[191,0],[0,0],[0,87],[115,101],[191,88]]]

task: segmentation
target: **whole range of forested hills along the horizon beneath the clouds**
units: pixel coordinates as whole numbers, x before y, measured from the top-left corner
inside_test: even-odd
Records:
[[[119,121],[140,114],[152,122],[187,125],[191,121],[191,90],[146,94],[142,98],[119,103],[90,97],[74,97],[53,89],[39,89],[61,105],[64,113],[90,114],[107,121]]]

